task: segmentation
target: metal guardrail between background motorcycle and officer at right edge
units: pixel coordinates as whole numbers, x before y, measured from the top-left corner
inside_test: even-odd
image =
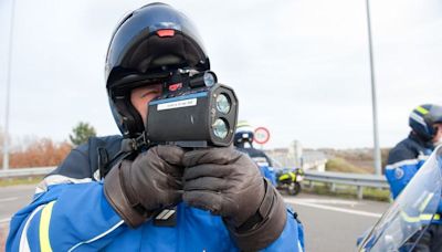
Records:
[[[336,185],[356,186],[358,199],[364,198],[362,192],[365,187],[378,189],[390,188],[386,178],[377,175],[306,170],[305,180],[309,181],[311,187],[313,187],[313,181],[329,183],[332,191],[336,190]]]

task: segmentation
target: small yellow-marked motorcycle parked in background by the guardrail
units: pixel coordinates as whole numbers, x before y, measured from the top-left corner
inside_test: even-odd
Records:
[[[276,172],[277,189],[286,190],[288,195],[296,196],[301,192],[301,182],[304,180],[304,171],[301,168],[284,168]]]

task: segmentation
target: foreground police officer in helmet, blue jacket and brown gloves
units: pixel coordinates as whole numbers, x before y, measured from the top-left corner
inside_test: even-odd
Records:
[[[8,251],[303,250],[295,214],[233,148],[160,145],[133,159],[108,158],[145,130],[147,104],[161,94],[156,76],[176,69],[210,69],[190,20],[164,3],[126,15],[105,71],[123,136],[72,150],[12,218]]]

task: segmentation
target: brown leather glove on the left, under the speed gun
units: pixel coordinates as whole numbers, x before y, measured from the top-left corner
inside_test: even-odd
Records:
[[[109,171],[105,196],[129,227],[136,228],[156,211],[181,201],[182,156],[179,147],[156,146]]]

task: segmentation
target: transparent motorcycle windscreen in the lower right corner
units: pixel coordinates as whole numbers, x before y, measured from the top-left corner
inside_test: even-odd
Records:
[[[442,189],[442,146],[439,146],[359,245],[359,251],[398,251],[429,224]]]

